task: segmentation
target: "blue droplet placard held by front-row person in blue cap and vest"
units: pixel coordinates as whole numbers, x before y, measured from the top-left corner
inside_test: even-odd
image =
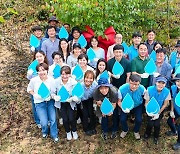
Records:
[[[146,113],[147,114],[157,114],[160,111],[160,106],[156,99],[152,97],[148,104],[146,105]]]

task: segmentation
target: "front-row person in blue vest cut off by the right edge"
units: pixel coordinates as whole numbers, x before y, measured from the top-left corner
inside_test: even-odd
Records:
[[[180,74],[177,74],[175,78],[173,79],[175,81],[175,85],[171,86],[171,92],[172,92],[172,103],[171,103],[171,111],[170,111],[170,117],[167,120],[167,123],[170,127],[170,131],[168,131],[166,134],[168,136],[175,136],[178,133],[178,139],[177,143],[173,145],[174,150],[180,149],[180,125],[178,125],[178,129],[176,129],[174,121],[177,121],[177,119],[180,117],[180,107],[176,105],[175,98],[180,91]]]

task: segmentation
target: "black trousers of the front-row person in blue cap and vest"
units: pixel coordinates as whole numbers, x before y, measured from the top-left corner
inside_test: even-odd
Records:
[[[158,138],[159,137],[159,132],[160,132],[160,122],[161,122],[162,117],[163,117],[163,113],[161,113],[159,115],[159,118],[156,119],[156,120],[151,120],[152,117],[148,116],[147,117],[147,127],[146,127],[145,134],[150,136],[152,128],[154,127],[154,138]]]

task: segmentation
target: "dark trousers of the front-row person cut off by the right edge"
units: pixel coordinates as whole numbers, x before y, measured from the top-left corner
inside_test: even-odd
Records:
[[[174,120],[176,121],[180,117],[180,115],[177,114],[176,110],[174,110],[174,115],[175,115]],[[178,124],[177,125],[178,128],[176,128],[176,125],[175,125],[175,123],[173,122],[173,119],[170,116],[169,116],[169,118],[167,120],[167,123],[168,123],[168,125],[169,125],[172,132],[176,133],[176,131],[177,131],[177,133],[178,133],[177,142],[180,143],[180,124]]]

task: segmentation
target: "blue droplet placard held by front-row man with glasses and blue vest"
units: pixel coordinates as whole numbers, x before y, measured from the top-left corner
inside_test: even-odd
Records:
[[[122,100],[121,108],[123,111],[126,109],[132,110],[134,108],[134,101],[129,93],[127,93],[124,99]]]

